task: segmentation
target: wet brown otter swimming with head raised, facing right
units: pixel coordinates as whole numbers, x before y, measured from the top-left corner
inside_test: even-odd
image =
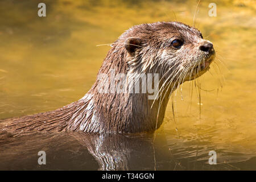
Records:
[[[96,82],[79,101],[46,113],[3,119],[0,122],[2,130],[85,133],[155,131],[163,122],[170,94],[183,82],[207,72],[215,56],[213,44],[203,39],[197,28],[181,22],[133,26],[111,46]],[[97,87],[102,85],[101,75],[110,76],[111,71],[130,76],[157,73],[158,96],[150,100],[148,92],[99,92]],[[116,80],[114,84],[118,84]],[[110,86],[108,84],[107,88],[111,89]]]

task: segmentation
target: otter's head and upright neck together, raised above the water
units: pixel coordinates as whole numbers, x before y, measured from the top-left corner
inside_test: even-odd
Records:
[[[205,73],[213,58],[212,43],[183,23],[130,28],[112,44],[96,83],[83,97],[88,106],[76,118],[88,119],[82,121],[80,130],[137,133],[157,129],[163,122],[167,94]]]

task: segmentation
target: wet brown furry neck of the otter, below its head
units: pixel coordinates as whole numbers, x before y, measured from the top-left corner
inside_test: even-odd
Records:
[[[99,93],[100,74],[110,75],[112,69],[117,73],[129,71],[123,47],[115,46],[109,51],[96,82],[80,100],[84,105],[75,111],[68,129],[94,133],[141,133],[157,129],[163,122],[172,86],[164,92],[164,98],[155,101],[148,99],[148,93]]]

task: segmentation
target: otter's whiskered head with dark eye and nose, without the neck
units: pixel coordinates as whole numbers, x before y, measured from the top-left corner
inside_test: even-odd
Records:
[[[166,84],[193,80],[207,72],[213,44],[199,30],[180,22],[134,26],[121,36],[130,72],[159,73]]]

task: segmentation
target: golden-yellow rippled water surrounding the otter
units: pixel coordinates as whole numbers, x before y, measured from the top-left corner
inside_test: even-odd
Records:
[[[135,24],[177,20],[192,26],[197,5],[196,1],[44,1],[47,16],[39,18],[39,2],[0,2],[0,119],[79,100],[95,81],[110,48],[98,44],[114,42]],[[129,169],[256,169],[255,1],[218,2],[216,17],[208,15],[209,3],[200,2],[195,27],[214,44],[218,66],[213,63],[210,73],[197,82],[201,103],[198,88],[193,87],[191,95],[192,82],[186,82],[174,97],[175,122],[170,101],[150,146],[165,157],[151,152],[144,162],[148,166],[135,165],[137,159],[130,158]],[[50,158],[44,169],[98,168],[86,147],[63,135],[51,141],[55,147],[44,148],[58,161]],[[0,159],[11,162],[1,163],[1,169],[43,168],[36,163],[37,151],[45,146],[40,141],[34,138],[39,146],[30,152],[30,144],[0,145]],[[60,141],[66,141],[65,147],[57,147]],[[147,153],[134,146],[130,150],[137,151],[138,158]],[[217,165],[208,163],[211,150],[217,152]],[[35,162],[28,164],[30,155]]]

